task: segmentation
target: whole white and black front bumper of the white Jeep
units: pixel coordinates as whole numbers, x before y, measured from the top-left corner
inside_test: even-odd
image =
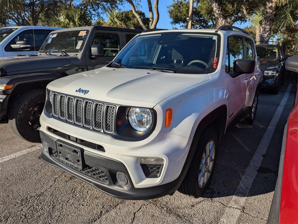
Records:
[[[40,122],[44,161],[117,198],[144,200],[175,192],[189,166],[186,161],[191,160],[188,151],[192,139],[187,137],[153,131],[145,140],[127,142],[48,118],[44,113]],[[49,125],[56,127],[55,131]],[[59,159],[57,142],[82,151],[83,169]],[[146,176],[139,157],[162,158],[159,175]]]

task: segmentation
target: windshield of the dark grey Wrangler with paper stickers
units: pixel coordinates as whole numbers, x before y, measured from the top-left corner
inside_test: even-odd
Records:
[[[44,41],[38,54],[72,55],[82,51],[89,30],[54,32]]]

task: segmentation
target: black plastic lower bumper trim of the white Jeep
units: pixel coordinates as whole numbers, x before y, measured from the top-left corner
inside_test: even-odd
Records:
[[[41,159],[116,198],[128,200],[146,200],[159,198],[165,195],[172,194],[178,189],[181,184],[182,179],[181,176],[179,176],[179,178],[168,184],[148,188],[135,188],[132,184],[127,169],[121,162],[87,151],[83,152],[84,160],[86,163],[84,164],[84,168],[80,169],[78,167],[74,167],[67,164],[67,162],[63,160],[60,160],[56,155],[54,155],[55,153],[52,153],[52,151],[56,152],[56,141],[63,140],[53,138],[42,131],[40,131],[40,135],[43,145]],[[90,175],[90,173],[88,173],[88,171],[84,169],[96,169],[96,172],[99,172],[98,170],[100,170],[102,171],[102,173],[99,175],[100,177],[98,178],[94,177],[92,174]],[[123,186],[123,183],[120,183],[121,181],[117,181],[118,172],[125,174],[125,176],[127,177],[127,184],[125,186]]]

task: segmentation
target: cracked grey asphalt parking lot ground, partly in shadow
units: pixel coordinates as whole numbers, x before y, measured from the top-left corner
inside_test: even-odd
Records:
[[[294,105],[293,77],[277,95],[261,92],[252,126],[229,128],[206,194],[179,192],[122,200],[40,159],[41,145],[0,124],[0,223],[266,223],[277,179],[283,129]]]

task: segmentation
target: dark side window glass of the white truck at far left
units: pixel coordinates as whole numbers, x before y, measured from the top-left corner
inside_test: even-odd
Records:
[[[44,40],[49,35],[49,33],[52,31],[53,31],[53,29],[46,29],[46,30],[35,29],[34,31],[33,31],[33,29],[25,30],[25,31],[19,33],[17,36],[15,36],[13,38],[13,40],[11,40],[7,44],[7,46],[5,46],[4,49],[6,52],[19,51],[17,49],[13,49],[10,45],[15,44],[19,40],[28,40],[30,42],[31,48],[21,50],[21,51],[39,51],[42,44],[44,43]]]

